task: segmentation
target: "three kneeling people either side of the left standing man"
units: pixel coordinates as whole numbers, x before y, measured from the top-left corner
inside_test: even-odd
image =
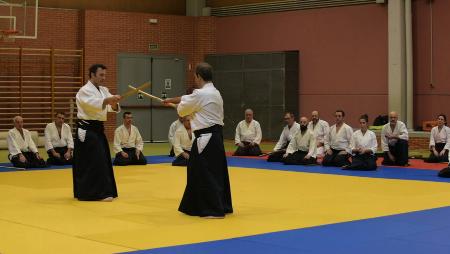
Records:
[[[64,113],[55,114],[55,120],[45,127],[45,149],[48,159],[39,155],[36,144],[27,129],[23,128],[20,116],[13,118],[14,128],[8,131],[8,159],[17,168],[45,168],[50,165],[71,165],[73,158],[73,136],[71,128],[64,123]],[[114,133],[114,165],[145,165],[142,154],[144,142],[136,126],[132,124],[131,112],[123,114],[123,124]]]

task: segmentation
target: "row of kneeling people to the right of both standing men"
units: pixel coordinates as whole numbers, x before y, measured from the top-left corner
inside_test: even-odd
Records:
[[[245,110],[244,120],[236,127],[235,156],[263,154],[259,146],[262,139],[261,125],[254,120],[253,115],[251,109]],[[360,128],[356,131],[345,123],[343,110],[336,110],[335,119],[335,124],[330,127],[319,118],[317,111],[313,111],[311,121],[301,117],[297,123],[294,115],[287,112],[284,115],[286,126],[267,161],[308,165],[316,164],[316,159],[321,158],[323,166],[342,167],[345,170],[375,170],[378,142],[375,133],[368,129],[368,116],[365,114],[359,118]],[[439,115],[437,122],[438,125],[431,131],[430,156],[425,159],[429,163],[449,161],[450,128],[446,126],[446,116]],[[389,122],[381,131],[384,157],[382,164],[409,165],[408,140],[406,125],[398,120],[396,112],[391,112]]]

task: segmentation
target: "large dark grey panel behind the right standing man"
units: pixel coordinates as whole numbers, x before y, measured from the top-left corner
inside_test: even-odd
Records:
[[[265,140],[278,140],[285,111],[298,117],[297,51],[208,55],[206,61],[224,99],[225,138],[234,139],[246,108],[253,109]]]

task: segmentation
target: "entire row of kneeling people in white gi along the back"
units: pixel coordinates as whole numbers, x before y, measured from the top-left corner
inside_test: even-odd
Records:
[[[262,131],[259,122],[253,119],[253,111],[245,110],[245,119],[236,127],[235,144],[237,156],[259,156],[262,154],[260,143]],[[323,166],[342,167],[346,170],[375,170],[376,151],[378,147],[375,133],[368,130],[367,115],[359,118],[360,128],[353,131],[344,121],[345,112],[336,110],[335,124],[329,124],[319,118],[313,111],[311,121],[301,117],[299,123],[292,113],[284,115],[283,131],[275,148],[269,153],[269,162],[309,165],[322,159]],[[45,148],[47,161],[39,155],[30,132],[23,128],[23,119],[13,119],[14,128],[9,130],[7,142],[9,159],[15,167],[33,168],[48,165],[69,165],[72,163],[74,148],[71,128],[64,123],[63,113],[56,113],[55,120],[45,128]],[[194,134],[190,126],[190,116],[179,118],[169,129],[169,142],[172,145],[172,165],[185,166],[188,163]],[[131,112],[123,113],[123,124],[114,133],[114,165],[145,165],[143,140],[136,126],[132,124]],[[446,126],[446,116],[437,118],[438,125],[431,130],[430,156],[425,161],[430,163],[448,162],[450,150],[450,128]],[[389,123],[381,131],[381,148],[383,165],[408,165],[408,130],[398,120],[398,114],[389,114]],[[351,160],[350,160],[351,158]],[[450,177],[450,167],[443,169],[440,176]]]

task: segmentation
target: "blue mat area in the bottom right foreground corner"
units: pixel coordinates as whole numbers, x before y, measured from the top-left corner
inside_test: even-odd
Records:
[[[450,253],[450,207],[127,252],[131,254]]]

